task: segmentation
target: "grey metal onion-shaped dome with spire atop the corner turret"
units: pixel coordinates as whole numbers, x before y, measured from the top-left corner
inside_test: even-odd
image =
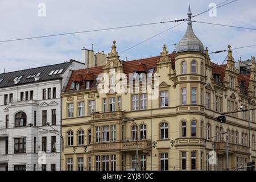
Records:
[[[195,33],[193,32],[192,22],[191,22],[191,10],[190,5],[188,7],[188,27],[185,35],[177,44],[176,52],[185,52],[185,51],[195,51],[204,53],[204,45],[203,43],[197,38]]]

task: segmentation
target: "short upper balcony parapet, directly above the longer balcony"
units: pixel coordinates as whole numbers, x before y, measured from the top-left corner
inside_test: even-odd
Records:
[[[101,119],[113,119],[113,118],[125,118],[125,111],[123,110],[115,110],[115,111],[108,111],[97,113],[94,112],[92,115],[92,120],[101,120]]]

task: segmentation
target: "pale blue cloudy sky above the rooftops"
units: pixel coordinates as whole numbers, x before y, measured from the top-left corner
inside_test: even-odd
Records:
[[[0,1],[0,41],[127,26],[141,23],[162,22],[187,18],[188,3],[193,15],[207,10],[209,3],[221,3],[224,0],[1,0]],[[230,0],[232,1],[232,0]],[[45,3],[46,16],[38,16],[39,3]],[[194,18],[203,22],[230,24],[256,28],[256,1],[238,0],[220,9],[217,16],[208,13]],[[89,32],[84,34],[55,36],[31,40],[0,43],[0,73],[19,69],[39,67],[48,64],[63,63],[69,59],[81,61],[81,48],[92,48],[94,51],[108,53],[112,41],[117,41],[117,50],[123,50],[167,30],[178,23],[156,24],[152,26],[132,27],[119,30]],[[133,60],[159,55],[163,44],[172,52],[174,44],[184,35],[187,23],[156,36],[129,51],[120,54],[121,59]],[[256,44],[256,31],[230,27],[212,26],[193,23],[197,37],[208,46],[209,51],[226,49],[228,44],[233,48]],[[256,55],[256,47],[234,50],[236,60],[242,57],[247,60]],[[211,55],[219,64],[226,53]]]

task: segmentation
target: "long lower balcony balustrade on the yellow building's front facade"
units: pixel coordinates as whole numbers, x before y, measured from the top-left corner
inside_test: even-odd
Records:
[[[137,141],[109,142],[109,143],[92,143],[90,151],[106,151],[106,150],[121,150],[121,151],[136,151]],[[150,151],[151,140],[138,140],[139,151]]]

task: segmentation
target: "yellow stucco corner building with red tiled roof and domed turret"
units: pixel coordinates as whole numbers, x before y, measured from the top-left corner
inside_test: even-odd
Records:
[[[187,32],[171,54],[164,46],[160,56],[121,61],[113,42],[107,61],[88,58],[62,94],[62,170],[233,170],[255,162],[254,110],[216,120],[255,107],[255,58],[242,75],[228,48],[225,65],[212,63],[189,9]],[[208,162],[212,150],[216,165]]]

